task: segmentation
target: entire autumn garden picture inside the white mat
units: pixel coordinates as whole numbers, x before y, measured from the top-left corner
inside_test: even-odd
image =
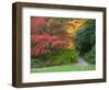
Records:
[[[32,72],[94,70],[95,24],[92,19],[32,16]]]

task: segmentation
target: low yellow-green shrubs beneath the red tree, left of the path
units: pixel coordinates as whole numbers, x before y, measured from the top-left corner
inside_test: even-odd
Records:
[[[52,50],[41,57],[32,59],[32,68],[41,68],[49,66],[66,65],[76,63],[78,53],[75,49]]]

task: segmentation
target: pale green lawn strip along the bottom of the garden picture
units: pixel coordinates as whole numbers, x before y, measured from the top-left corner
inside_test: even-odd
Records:
[[[52,66],[45,68],[32,69],[31,72],[58,72],[58,71],[84,71],[84,70],[95,70],[95,65],[88,64],[87,66],[77,66],[77,65],[62,65],[62,66]]]

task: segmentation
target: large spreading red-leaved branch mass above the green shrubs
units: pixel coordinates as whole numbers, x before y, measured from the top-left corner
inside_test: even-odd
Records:
[[[51,36],[47,33],[44,33],[43,35],[32,35],[31,40],[33,43],[32,56],[34,57],[47,54],[53,48],[62,48],[66,44],[65,41],[60,37]]]

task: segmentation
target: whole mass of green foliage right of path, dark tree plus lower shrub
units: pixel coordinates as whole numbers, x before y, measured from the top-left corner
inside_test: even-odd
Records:
[[[89,20],[85,27],[76,32],[76,49],[90,64],[95,64],[95,20]]]

